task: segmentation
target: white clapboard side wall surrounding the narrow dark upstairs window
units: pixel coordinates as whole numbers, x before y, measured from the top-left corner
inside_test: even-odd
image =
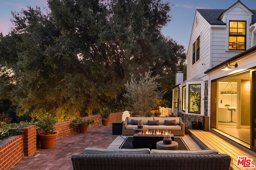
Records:
[[[210,24],[196,12],[198,24],[193,25],[190,42],[188,45],[187,59],[187,80],[199,79],[210,66]],[[194,21],[195,22],[195,21]],[[200,59],[192,65],[193,43],[200,36]]]

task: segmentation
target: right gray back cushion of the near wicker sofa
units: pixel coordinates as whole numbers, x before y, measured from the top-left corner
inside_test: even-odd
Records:
[[[217,150],[156,150],[152,149],[150,154],[219,154]]]

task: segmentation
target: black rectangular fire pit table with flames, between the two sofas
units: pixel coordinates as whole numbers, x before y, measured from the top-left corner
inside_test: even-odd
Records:
[[[171,134],[172,141],[174,141],[174,135]],[[163,135],[133,135],[132,145],[135,148],[149,148],[156,149],[156,143],[164,139]]]

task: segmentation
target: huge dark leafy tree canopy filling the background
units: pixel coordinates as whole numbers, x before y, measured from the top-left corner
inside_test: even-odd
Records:
[[[99,113],[122,100],[131,74],[149,68],[171,92],[186,55],[161,33],[169,2],[48,0],[48,8],[12,12],[12,31],[0,34],[0,99],[19,115],[63,121]]]

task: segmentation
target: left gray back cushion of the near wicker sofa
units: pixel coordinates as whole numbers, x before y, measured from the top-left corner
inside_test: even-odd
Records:
[[[86,148],[84,154],[150,154],[150,149],[100,149]]]

